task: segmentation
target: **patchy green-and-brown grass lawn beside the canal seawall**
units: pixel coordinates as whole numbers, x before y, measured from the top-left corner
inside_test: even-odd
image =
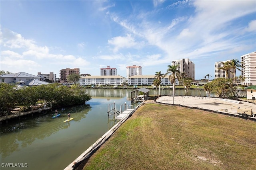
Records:
[[[255,170],[256,123],[196,109],[144,104],[82,167]]]

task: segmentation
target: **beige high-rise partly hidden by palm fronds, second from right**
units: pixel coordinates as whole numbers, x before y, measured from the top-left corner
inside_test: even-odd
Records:
[[[230,68],[230,70],[228,70],[228,77],[226,77],[226,71],[223,69],[220,69],[225,66],[226,62],[230,62],[230,60],[215,62],[214,78],[234,78],[234,75],[233,75],[234,69],[233,68]]]

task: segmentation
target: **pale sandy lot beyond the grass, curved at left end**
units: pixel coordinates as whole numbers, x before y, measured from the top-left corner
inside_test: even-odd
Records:
[[[156,99],[156,102],[173,104],[172,96],[161,96]],[[237,113],[240,109],[252,109],[256,113],[256,104],[248,102],[240,102],[237,100],[208,98],[208,97],[191,97],[191,96],[174,96],[174,104],[180,104],[189,107],[198,107],[214,111],[224,111],[228,113]]]

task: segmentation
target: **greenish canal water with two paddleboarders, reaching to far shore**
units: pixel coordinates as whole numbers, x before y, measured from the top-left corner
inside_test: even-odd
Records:
[[[114,126],[113,115],[108,118],[109,104],[115,102],[118,110],[125,102],[131,104],[132,89],[87,91],[92,96],[87,105],[60,109],[61,115],[55,119],[52,118],[53,111],[47,111],[2,123],[0,169],[62,170]],[[172,95],[172,89],[160,92],[161,95]],[[158,95],[159,90],[150,89],[149,94]],[[176,95],[185,94],[186,90],[176,89]],[[189,90],[188,95],[207,96],[202,89]],[[68,113],[74,119],[63,123]]]

